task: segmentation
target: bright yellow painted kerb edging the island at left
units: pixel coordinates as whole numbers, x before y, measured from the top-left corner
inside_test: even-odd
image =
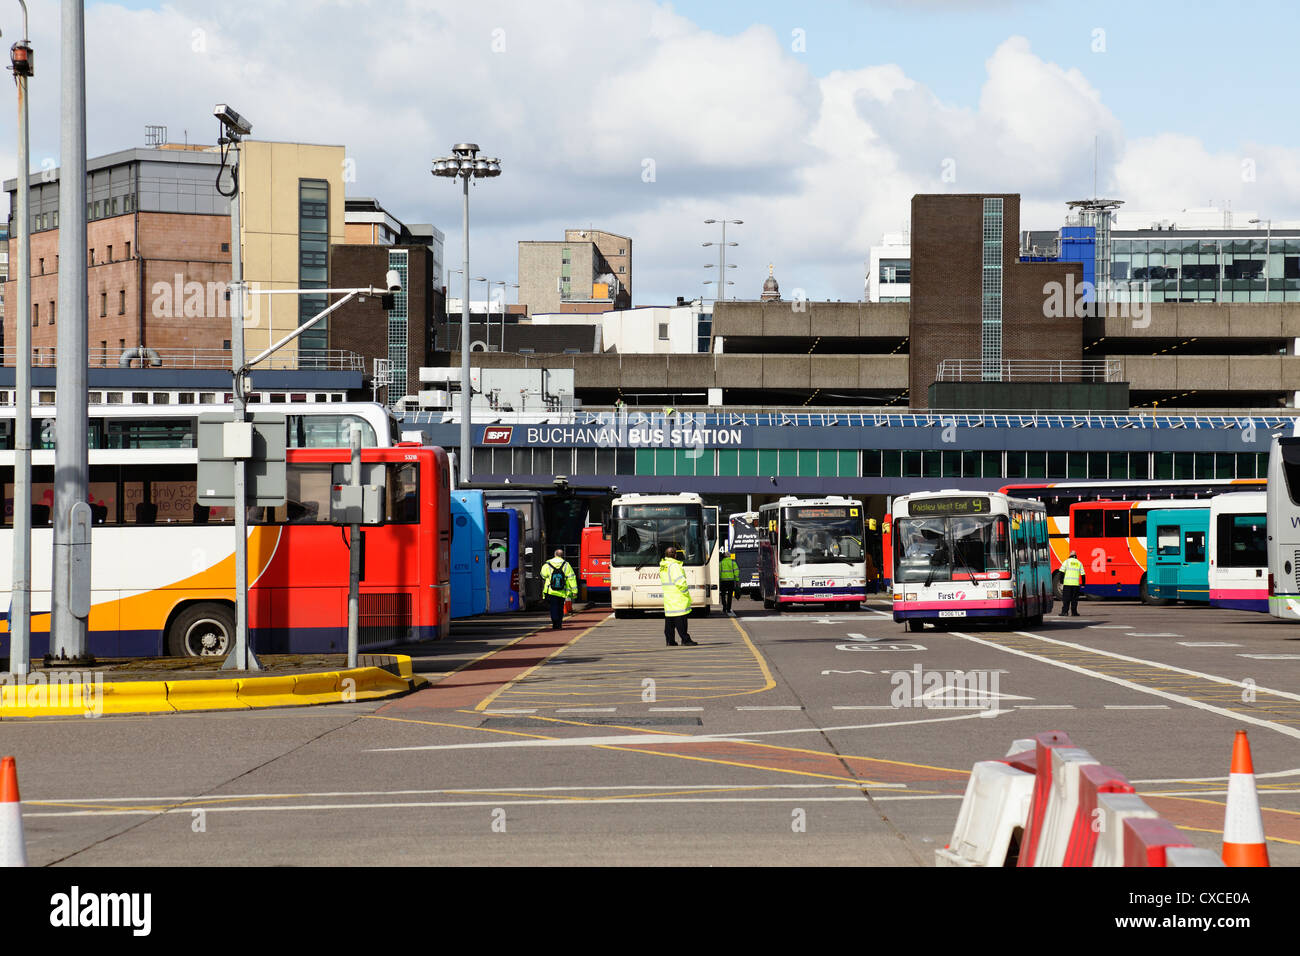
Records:
[[[35,689],[20,692],[22,685],[8,685],[0,693],[0,719],[344,704],[396,697],[428,683],[415,675],[406,654],[361,654],[359,663],[352,670],[265,678],[66,684],[58,688],[61,700],[48,693],[38,698]]]

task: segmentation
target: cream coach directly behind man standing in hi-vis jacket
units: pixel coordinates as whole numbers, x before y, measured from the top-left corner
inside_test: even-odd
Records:
[[[659,562],[676,548],[690,585],[690,605],[708,614],[719,604],[718,507],[698,494],[623,494],[610,505],[610,604],[625,618],[663,611]]]

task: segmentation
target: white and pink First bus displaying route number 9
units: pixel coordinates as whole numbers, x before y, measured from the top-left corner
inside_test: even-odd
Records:
[[[997,492],[920,492],[893,503],[893,618],[1043,623],[1052,610],[1046,509]]]

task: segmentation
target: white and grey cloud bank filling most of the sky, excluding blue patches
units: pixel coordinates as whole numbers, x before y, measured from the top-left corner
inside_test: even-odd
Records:
[[[58,5],[30,5],[39,168],[58,151]],[[346,144],[350,194],[433,221],[450,265],[460,190],[429,163],[469,139],[503,165],[471,194],[474,273],[512,277],[520,239],[593,224],[633,238],[637,303],[699,294],[716,272],[699,243],[719,238],[705,219],[745,220],[727,234],[733,294],[755,297],[774,263],[783,290],[832,299],[861,297],[870,247],[915,193],[1018,191],[1022,228],[1060,225],[1065,200],[1092,191],[1093,137],[1101,191],[1131,206],[1300,209],[1296,151],[1127,139],[1083,73],[1022,36],[987,52],[975,105],[959,107],[867,53],[818,77],[774,29],[720,35],[653,0],[176,0],[91,4],[86,22],[91,155],[143,144],[146,124],[213,142],[226,101],[257,138]],[[0,124],[5,176],[12,157]]]

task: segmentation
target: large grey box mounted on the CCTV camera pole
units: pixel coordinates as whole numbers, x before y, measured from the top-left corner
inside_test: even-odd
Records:
[[[251,447],[246,428],[235,425],[229,414],[199,416],[199,486],[196,499],[204,507],[234,507],[234,460],[244,466],[247,505],[280,507],[287,493],[285,446],[287,429],[285,416],[274,412],[255,412],[246,423],[251,427]],[[240,454],[251,453],[251,454]]]

